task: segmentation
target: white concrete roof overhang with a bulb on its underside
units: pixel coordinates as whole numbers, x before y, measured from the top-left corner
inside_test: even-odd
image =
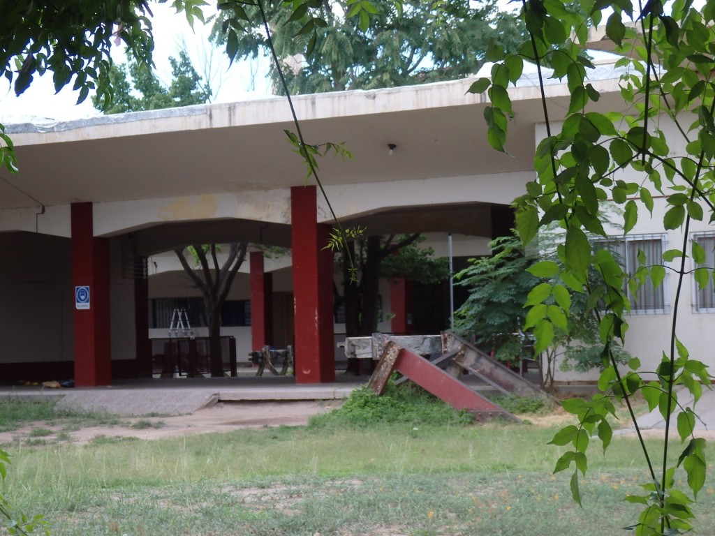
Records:
[[[619,75],[612,66],[598,66],[589,73],[602,91],[598,109],[623,108]],[[294,97],[307,143],[344,142],[355,157],[345,162],[332,156],[319,159],[322,183],[328,189],[400,181],[414,187],[418,179],[533,172],[535,125],[543,121],[536,74],[525,74],[510,89],[514,117],[509,154],[495,152],[486,142],[483,113],[488,98],[469,94],[472,82]],[[566,84],[546,82],[548,111],[558,120],[571,95]],[[294,131],[295,126],[283,97],[8,125],[20,174],[0,170],[0,210],[207,194],[240,198],[307,184],[305,164],[293,152],[284,129]],[[388,144],[396,146],[392,156]],[[460,201],[463,209],[483,202]],[[389,207],[385,200],[385,209]],[[410,209],[401,210],[403,222],[414,216]],[[453,219],[463,219],[461,214],[455,209]],[[379,223],[385,232],[409,227],[391,231],[382,220]],[[439,226],[426,227],[430,231]],[[277,242],[285,245],[285,229],[281,233],[283,239]]]

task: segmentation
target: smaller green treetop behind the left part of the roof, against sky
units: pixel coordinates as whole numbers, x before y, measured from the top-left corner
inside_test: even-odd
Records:
[[[122,114],[203,104],[211,98],[211,88],[203,83],[186,51],[179,51],[179,59],[170,56],[169,63],[172,66],[169,86],[164,86],[146,64],[131,59],[128,68],[126,64],[113,64],[109,68],[112,104],[105,108],[99,96],[92,96],[92,104],[105,114]]]

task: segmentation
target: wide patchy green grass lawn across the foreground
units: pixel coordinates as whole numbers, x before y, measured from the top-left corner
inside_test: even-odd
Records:
[[[557,427],[459,421],[15,445],[1,489],[58,536],[588,536],[636,521],[636,440],[614,437],[606,457],[593,440],[581,508],[570,473],[552,475]],[[715,534],[709,482],[698,499],[697,533]]]

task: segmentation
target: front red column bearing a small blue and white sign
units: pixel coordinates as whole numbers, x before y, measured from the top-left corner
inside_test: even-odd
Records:
[[[94,237],[92,203],[71,206],[72,284],[89,287],[89,308],[74,309],[74,384],[112,383],[109,345],[109,241]],[[85,300],[82,297],[80,302]]]

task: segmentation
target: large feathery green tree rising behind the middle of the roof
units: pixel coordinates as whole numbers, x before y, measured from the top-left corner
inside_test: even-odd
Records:
[[[511,50],[523,36],[523,25],[499,11],[495,0],[406,0],[399,4],[331,0],[304,5],[314,8],[310,10],[314,19],[300,6],[291,10],[279,1],[264,2],[292,94],[464,78],[479,70],[488,46],[498,43]],[[257,4],[247,2],[241,11],[231,6],[225,4],[215,23],[215,39],[226,44],[232,57],[255,58],[267,52]],[[241,29],[232,19],[235,13],[245,14]],[[365,24],[368,19],[369,26]],[[305,54],[307,48],[311,54]],[[276,90],[285,94],[275,66],[271,76]]]

